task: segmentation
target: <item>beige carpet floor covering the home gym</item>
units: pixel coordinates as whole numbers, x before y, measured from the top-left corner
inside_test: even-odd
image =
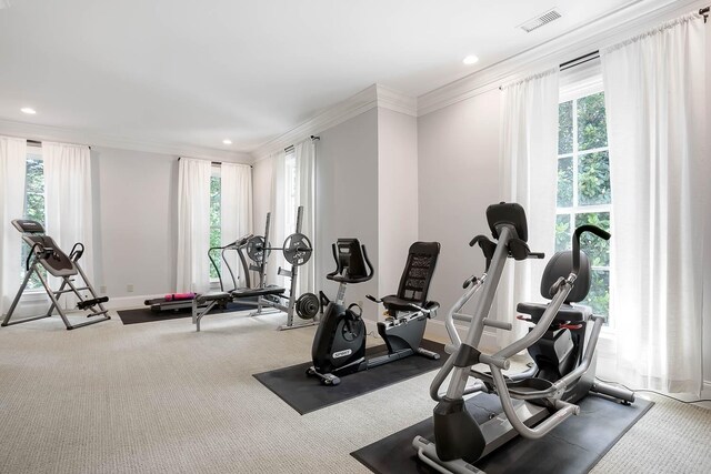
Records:
[[[351,451],[431,415],[434,373],[299,415],[252,374],[316,327],[238,314],[0,329],[0,473],[367,473]],[[593,472],[711,472],[711,411],[654,400]]]

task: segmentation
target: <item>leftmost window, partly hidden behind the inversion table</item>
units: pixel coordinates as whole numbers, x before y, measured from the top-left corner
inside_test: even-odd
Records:
[[[44,219],[44,162],[42,161],[42,149],[38,147],[28,147],[24,179],[23,219],[37,221],[42,224],[42,226],[46,226],[47,222]],[[22,242],[22,250],[20,251],[20,255],[22,259],[20,282],[24,280],[24,275],[27,274],[24,264],[27,262],[29,253],[29,245]],[[47,278],[47,271],[44,270],[44,268],[40,266],[40,272],[42,272],[42,276]],[[37,274],[32,275],[32,278],[28,282],[27,288],[29,290],[37,290],[42,288],[42,283],[40,282],[40,279],[37,276]]]

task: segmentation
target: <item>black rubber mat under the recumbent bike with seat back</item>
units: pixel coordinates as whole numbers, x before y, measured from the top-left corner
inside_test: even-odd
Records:
[[[421,355],[411,355],[368,371],[346,375],[337,386],[326,386],[318,377],[307,376],[307,369],[311,366],[311,362],[262,372],[253,376],[303,415],[441,367],[447,360],[444,346],[424,340],[422,347],[439,353],[440,359],[434,361]],[[369,347],[365,355],[372,357],[387,352],[384,345],[379,345]]]

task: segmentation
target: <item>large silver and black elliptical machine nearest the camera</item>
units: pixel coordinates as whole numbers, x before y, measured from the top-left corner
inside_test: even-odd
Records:
[[[412,441],[418,457],[438,472],[481,473],[472,464],[502,446],[517,435],[540,438],[555,426],[580,412],[575,405],[590,392],[597,392],[621,403],[634,401],[634,393],[595,380],[594,351],[603,316],[592,314],[588,306],[578,305],[590,289],[590,262],[580,251],[580,235],[589,232],[601,239],[610,234],[594,225],[582,225],[573,233],[572,252],[558,252],[550,260],[541,279],[541,295],[547,304],[520,303],[520,316],[533,326],[518,341],[494,354],[479,349],[485,326],[511,330],[510,323],[490,320],[494,293],[509,258],[525,260],[543,258],[531,252],[527,244],[525,213],[519,204],[500,203],[487,209],[487,219],[494,239],[478,235],[470,245],[479,244],[487,260],[481,278],[472,276],[464,283],[468,291],[447,316],[447,330],[452,341],[451,354],[435,375],[430,396],[439,402],[434,407],[434,442],[422,436]],[[473,315],[461,309],[479,291]],[[457,333],[453,320],[470,323],[465,340]],[[530,369],[504,376],[510,357],[528,350],[533,359]],[[487,364],[481,372],[475,364]],[[451,374],[447,393],[440,387]],[[468,386],[470,377],[474,383]],[[464,396],[478,392],[494,393],[501,401],[503,413],[492,414],[479,424],[468,412]]]

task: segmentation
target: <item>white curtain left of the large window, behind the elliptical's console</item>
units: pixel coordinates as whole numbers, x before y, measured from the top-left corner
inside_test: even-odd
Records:
[[[502,89],[500,133],[502,200],[517,202],[528,218],[528,243],[533,252],[552,256],[555,239],[555,180],[558,177],[558,69]],[[497,291],[495,319],[513,324],[497,331],[500,346],[525,332],[515,321],[515,305],[543,301],[540,295],[543,260],[509,261]]]

